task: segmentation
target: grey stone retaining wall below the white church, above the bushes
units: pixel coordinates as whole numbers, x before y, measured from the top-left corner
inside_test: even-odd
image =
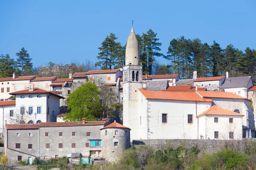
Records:
[[[191,148],[198,146],[201,153],[215,153],[226,147],[235,148],[238,151],[244,151],[248,144],[256,144],[256,139],[243,140],[196,140],[196,139],[148,139],[148,140],[133,140],[133,145],[146,144],[155,147],[158,150],[164,150],[166,147],[185,147]]]

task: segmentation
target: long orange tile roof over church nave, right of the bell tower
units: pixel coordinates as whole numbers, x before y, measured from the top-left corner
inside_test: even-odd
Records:
[[[169,91],[145,91],[138,89],[147,99],[164,99],[164,100],[180,100],[205,102],[205,100],[197,93],[188,92],[169,92]]]

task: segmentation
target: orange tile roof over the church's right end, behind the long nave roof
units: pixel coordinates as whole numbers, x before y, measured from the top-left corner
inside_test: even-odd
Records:
[[[204,98],[223,98],[223,99],[246,99],[237,94],[231,92],[222,92],[222,91],[197,91],[198,94]],[[250,100],[250,99],[247,99]],[[250,100],[251,101],[251,100]]]

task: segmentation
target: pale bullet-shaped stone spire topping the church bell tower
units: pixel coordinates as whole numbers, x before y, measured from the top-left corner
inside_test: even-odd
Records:
[[[125,65],[140,65],[140,48],[134,28],[131,28],[131,33],[126,44]]]

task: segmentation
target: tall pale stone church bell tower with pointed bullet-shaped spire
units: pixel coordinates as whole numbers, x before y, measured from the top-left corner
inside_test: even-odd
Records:
[[[123,125],[131,130],[139,126],[138,88],[142,87],[140,48],[134,29],[131,28],[125,50],[125,66],[123,67]],[[131,140],[133,139],[138,139],[138,133],[135,130],[131,132]]]

